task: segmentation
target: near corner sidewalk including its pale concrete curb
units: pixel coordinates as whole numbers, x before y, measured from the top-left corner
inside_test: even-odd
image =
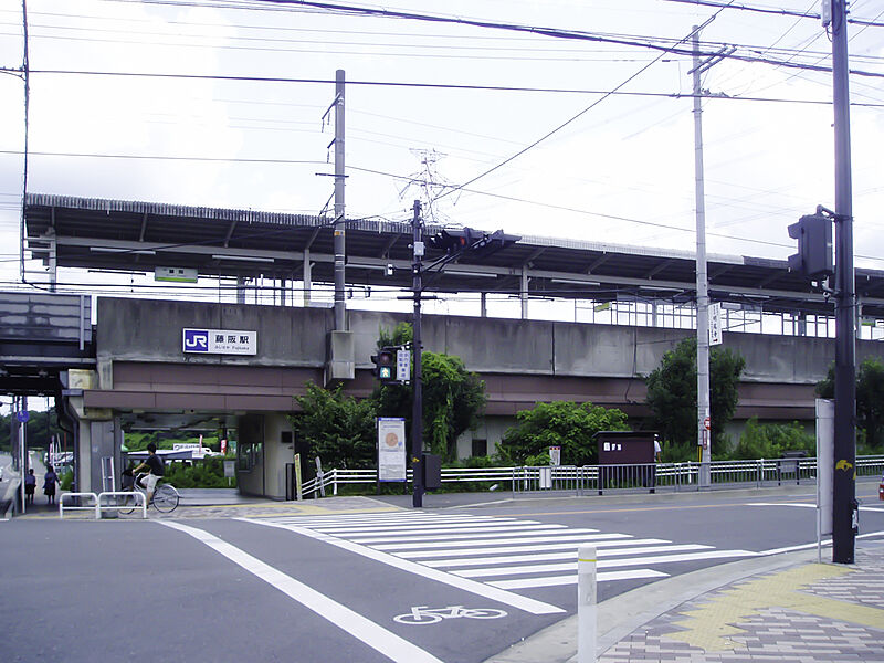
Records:
[[[856,541],[856,562],[831,548],[702,569],[598,607],[598,663],[884,662],[884,543]],[[486,663],[577,663],[577,617]]]

